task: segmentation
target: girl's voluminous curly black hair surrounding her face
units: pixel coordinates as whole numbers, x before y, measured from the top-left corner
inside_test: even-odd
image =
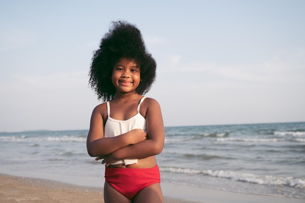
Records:
[[[156,62],[146,50],[140,30],[126,21],[113,21],[108,33],[94,51],[89,71],[89,85],[98,100],[110,101],[115,96],[111,81],[114,64],[122,57],[133,60],[140,67],[141,82],[135,92],[144,95],[155,81]]]

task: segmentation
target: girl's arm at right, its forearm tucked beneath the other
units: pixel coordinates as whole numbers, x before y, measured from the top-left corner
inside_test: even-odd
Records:
[[[110,159],[143,159],[161,153],[165,138],[161,108],[156,100],[147,99],[149,100],[146,111],[147,140],[114,151]],[[107,160],[103,161],[106,162]]]

